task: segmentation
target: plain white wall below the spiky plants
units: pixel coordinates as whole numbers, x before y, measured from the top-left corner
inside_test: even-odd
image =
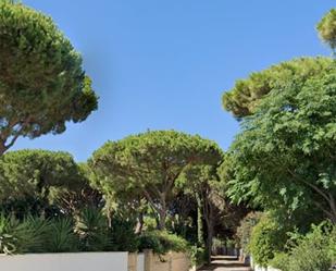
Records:
[[[127,271],[127,252],[35,254],[0,256],[9,271]]]

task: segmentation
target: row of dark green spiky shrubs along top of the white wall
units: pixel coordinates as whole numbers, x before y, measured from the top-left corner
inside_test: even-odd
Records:
[[[85,209],[75,220],[0,214],[0,254],[136,251],[139,238],[134,229],[134,221],[120,215],[112,217],[109,227],[107,218],[96,209]],[[169,241],[174,243],[172,237]]]

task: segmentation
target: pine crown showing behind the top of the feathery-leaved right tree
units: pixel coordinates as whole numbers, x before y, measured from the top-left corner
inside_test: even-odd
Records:
[[[247,79],[237,81],[234,88],[223,95],[223,106],[236,118],[251,115],[273,89],[281,90],[294,79],[303,84],[313,76],[323,75],[331,62],[327,58],[300,58],[252,73]]]

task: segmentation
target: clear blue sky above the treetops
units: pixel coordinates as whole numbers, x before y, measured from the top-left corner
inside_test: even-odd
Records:
[[[13,149],[85,161],[108,139],[174,128],[227,149],[238,123],[221,97],[279,61],[328,56],[314,26],[335,0],[23,0],[53,17],[83,53],[100,96],[87,121]]]

